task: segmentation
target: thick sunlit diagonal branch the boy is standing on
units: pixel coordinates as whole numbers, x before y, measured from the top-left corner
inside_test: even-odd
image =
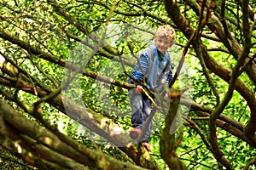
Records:
[[[8,85],[9,87],[13,88],[19,86],[21,90],[34,94],[34,88],[29,85],[29,82],[24,82],[21,79],[19,82],[16,82],[16,79],[13,81],[14,82],[10,81],[9,79],[0,78],[0,84]],[[36,89],[36,91],[38,92],[39,98],[44,98],[44,96],[48,94],[40,88]],[[116,124],[111,119],[101,116],[90,109],[84,108],[83,105],[79,105],[76,102],[67,99],[67,97],[63,95],[58,95],[55,98],[47,99],[46,102],[49,103],[49,105],[55,106],[55,108],[57,108],[59,111],[65,113],[67,116],[72,118],[74,121],[79,122],[84,127],[87,127],[91,131],[100,134],[103,138],[108,139],[108,141],[112,144],[117,146],[125,146],[131,142],[129,140],[129,134],[127,134],[122,127],[119,126],[119,124]],[[122,147],[122,150],[125,151],[127,155],[131,156],[137,165],[160,169],[156,162],[150,158],[150,156],[143,156],[145,154],[143,149],[137,150],[135,146],[126,146]]]

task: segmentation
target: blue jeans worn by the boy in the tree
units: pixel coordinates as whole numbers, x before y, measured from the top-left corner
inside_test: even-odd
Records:
[[[137,93],[136,88],[129,90],[129,98],[131,104],[131,123],[133,127],[143,129],[143,125],[146,122],[151,112],[151,101],[145,94]],[[145,136],[143,136],[142,142],[148,142],[149,136],[152,133],[152,120],[150,120],[149,126]]]

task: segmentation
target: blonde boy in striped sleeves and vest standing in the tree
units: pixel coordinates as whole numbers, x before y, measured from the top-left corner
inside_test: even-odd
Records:
[[[142,93],[143,84],[154,93],[160,93],[163,89],[163,83],[172,80],[172,63],[167,49],[173,45],[175,31],[171,26],[160,26],[154,35],[154,45],[146,48],[140,55],[137,65],[131,72],[131,78],[128,82],[137,85],[137,88],[129,90],[131,104],[131,123],[133,129],[130,132],[132,139],[137,139],[142,133],[143,124],[146,122],[151,112],[151,100]],[[149,123],[146,134],[143,136],[143,146],[149,151],[149,136],[152,132],[152,122]]]

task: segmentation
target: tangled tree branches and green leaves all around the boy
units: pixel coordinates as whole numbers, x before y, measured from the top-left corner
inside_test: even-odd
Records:
[[[255,169],[253,1],[8,0],[0,8],[1,169],[175,169],[180,161]],[[170,137],[155,113],[148,153],[125,143],[126,82],[164,24],[177,31],[174,73],[184,63],[172,88],[184,94]],[[169,103],[162,109],[173,116]]]

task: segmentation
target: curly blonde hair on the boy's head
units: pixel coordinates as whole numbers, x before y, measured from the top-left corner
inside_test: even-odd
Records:
[[[154,38],[158,38],[158,37],[167,37],[170,40],[174,40],[176,37],[176,33],[175,33],[175,30],[172,28],[172,26],[163,25],[163,26],[159,26],[155,31]]]

